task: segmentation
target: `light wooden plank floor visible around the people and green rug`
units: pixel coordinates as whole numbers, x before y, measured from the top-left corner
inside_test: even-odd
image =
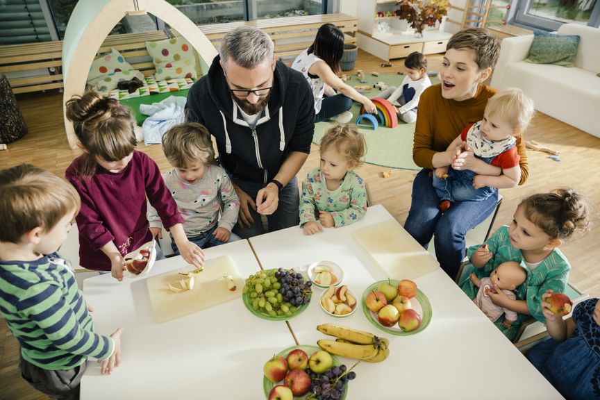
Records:
[[[442,56],[428,56],[429,69],[438,71]],[[394,60],[393,67],[382,68],[381,60],[363,51],[358,52],[357,69],[365,72],[396,72],[401,70],[401,60]],[[400,82],[400,78],[399,78]],[[49,169],[60,176],[79,151],[69,149],[63,126],[62,94],[26,94],[17,97],[29,132],[26,137],[8,145],[8,151],[0,151],[0,169],[31,163]],[[524,186],[502,189],[504,200],[494,229],[508,224],[512,213],[522,197],[554,188],[572,187],[587,194],[595,206],[592,231],[563,244],[561,250],[572,263],[570,283],[581,292],[600,296],[600,247],[597,234],[600,204],[600,139],[583,133],[572,126],[537,113],[526,139],[533,139],[546,147],[560,151],[560,162],[547,158],[547,154],[528,151],[529,179]],[[160,146],[144,146],[138,149],[148,153],[161,169],[169,167]],[[319,165],[319,149],[313,144],[308,161],[299,178],[306,176],[308,169]],[[381,172],[389,168],[365,164],[358,169],[369,183],[372,201],[383,204],[403,224],[410,207],[410,191],[414,171],[394,169],[392,176],[383,178]],[[18,345],[3,319],[0,321],[0,400],[1,399],[47,399],[31,389],[19,375]],[[117,370],[118,373],[118,370]]]

